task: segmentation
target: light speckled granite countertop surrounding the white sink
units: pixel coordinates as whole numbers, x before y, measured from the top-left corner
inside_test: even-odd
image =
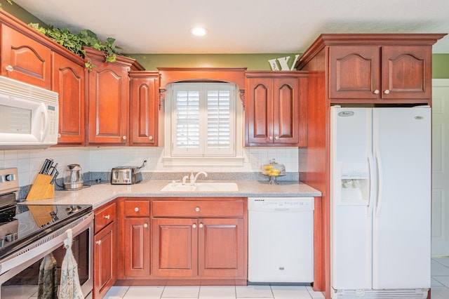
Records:
[[[279,185],[269,185],[266,181],[257,180],[232,181],[239,186],[239,191],[226,192],[161,191],[170,182],[144,180],[135,185],[106,183],[75,191],[61,190],[55,191],[53,199],[36,200],[32,204],[91,204],[95,209],[117,197],[321,197],[319,190],[297,181],[280,181]],[[27,204],[30,203],[31,201],[27,201]]]

